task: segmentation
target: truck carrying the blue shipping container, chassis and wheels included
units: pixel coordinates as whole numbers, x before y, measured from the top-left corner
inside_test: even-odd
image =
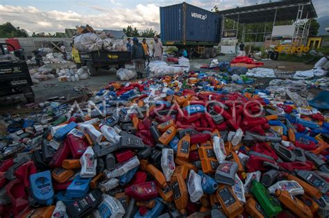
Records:
[[[186,49],[189,57],[214,58],[221,40],[221,16],[179,3],[160,7],[160,37],[164,46]]]

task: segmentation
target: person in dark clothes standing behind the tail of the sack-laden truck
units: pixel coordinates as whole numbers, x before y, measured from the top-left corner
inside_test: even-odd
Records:
[[[145,67],[144,62],[144,49],[142,44],[138,42],[137,37],[133,38],[132,57],[135,63],[135,70],[137,72],[137,78],[143,78],[143,72]]]

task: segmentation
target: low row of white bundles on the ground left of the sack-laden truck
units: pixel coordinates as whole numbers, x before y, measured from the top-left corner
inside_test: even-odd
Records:
[[[80,69],[56,69],[58,75],[58,82],[74,82],[87,79],[87,67]]]

